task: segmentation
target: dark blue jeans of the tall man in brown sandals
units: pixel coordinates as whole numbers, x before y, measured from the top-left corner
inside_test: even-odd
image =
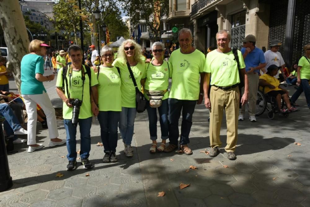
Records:
[[[186,145],[189,143],[189,132],[192,127],[192,118],[197,101],[179,100],[168,98],[169,105],[169,142],[170,144],[178,145],[179,138],[179,118],[182,110],[181,138],[180,144]],[[183,108],[183,109],[182,109]]]

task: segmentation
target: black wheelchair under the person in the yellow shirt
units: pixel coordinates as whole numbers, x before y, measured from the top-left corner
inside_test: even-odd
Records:
[[[291,105],[292,101],[290,100]],[[285,102],[281,99],[281,109],[286,106]],[[263,94],[262,91],[257,91],[257,99],[256,99],[256,111],[255,115],[259,116],[265,112],[265,110],[268,110],[268,119],[274,119],[275,114],[279,113],[278,106],[277,106],[277,100],[275,97],[269,96],[267,93]],[[289,112],[281,113],[282,116],[288,117]]]

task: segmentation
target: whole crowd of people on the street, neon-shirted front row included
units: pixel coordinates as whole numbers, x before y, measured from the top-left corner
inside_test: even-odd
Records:
[[[33,40],[29,45],[30,53],[21,61],[21,96],[9,92],[9,73],[3,66],[5,60],[0,57],[0,98],[4,100],[0,104],[0,115],[6,119],[6,136],[15,143],[24,143],[26,140],[16,135],[28,134],[28,152],[36,151],[44,147],[36,142],[36,123],[42,121],[49,130],[50,147],[66,143],[67,170],[73,170],[77,165],[79,124],[81,164],[90,169],[93,167],[89,160],[90,132],[92,119],[96,116],[104,146],[103,162],[117,162],[118,129],[124,153],[132,157],[137,99],[146,99],[144,110],[148,113],[152,142],[149,152],[170,153],[179,148],[185,155],[191,155],[193,151],[188,144],[192,117],[196,104],[204,100],[210,111],[210,157],[219,154],[222,144],[219,134],[225,112],[227,145],[224,149],[228,159],[235,160],[238,120],[244,120],[245,105],[248,104],[250,121],[257,121],[255,107],[259,87],[263,93],[275,98],[279,113],[297,111],[295,101],[302,92],[310,108],[310,44],[303,47],[304,56],[299,62],[287,67],[278,52],[281,47],[279,40],[272,40],[270,49],[264,53],[255,46],[255,36],[248,35],[242,39],[243,48],[239,51],[229,47],[229,31],[221,30],[216,34],[217,47],[208,48],[206,56],[193,47],[190,29],[181,29],[178,41],[179,48],[173,44],[168,50],[161,42],[153,43],[147,50],[128,39],[117,51],[109,46],[97,51],[95,45],[91,45],[87,52],[83,52],[80,46],[73,44],[67,52],[59,50],[47,54],[49,46],[43,41]],[[53,74],[44,76],[44,70],[48,68]],[[66,139],[58,138],[55,110],[43,85],[54,78],[57,79],[56,92],[63,101]],[[170,90],[169,79],[172,79]],[[296,85],[291,99],[281,85]],[[138,98],[140,92],[144,98]],[[281,99],[286,108],[282,108]],[[17,113],[21,109],[27,111],[27,127],[23,126],[21,115]],[[160,144],[157,144],[157,110]]]

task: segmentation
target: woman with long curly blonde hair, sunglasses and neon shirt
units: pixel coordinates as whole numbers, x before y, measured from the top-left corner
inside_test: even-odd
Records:
[[[135,86],[131,78],[135,78],[138,89],[141,90],[141,79],[145,73],[145,63],[141,59],[141,46],[134,40],[127,39],[118,48],[117,59],[113,62],[115,67],[119,67],[121,75],[122,111],[118,124],[124,142],[124,152],[127,157],[132,157],[131,141],[134,133],[134,123],[136,116]],[[135,77],[131,77],[127,62]]]

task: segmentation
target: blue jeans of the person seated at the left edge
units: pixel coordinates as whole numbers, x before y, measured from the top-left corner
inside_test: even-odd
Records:
[[[13,110],[8,104],[6,103],[0,104],[0,115],[5,118],[3,128],[7,136],[13,135],[16,130],[21,128],[18,119],[16,118],[16,116],[13,113]],[[13,140],[15,139],[17,139],[16,135],[14,135]]]

